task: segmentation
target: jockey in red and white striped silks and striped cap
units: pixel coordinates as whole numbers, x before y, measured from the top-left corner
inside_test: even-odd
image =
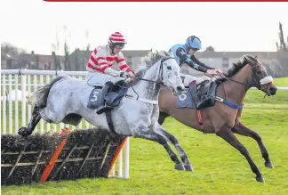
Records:
[[[108,45],[96,47],[87,62],[86,69],[89,73],[86,80],[88,84],[103,86],[100,94],[100,107],[96,111],[97,114],[101,114],[105,110],[113,110],[113,108],[105,105],[104,96],[117,81],[124,80],[124,77],[127,76],[129,77],[128,81],[132,81],[132,77],[135,77],[132,69],[124,60],[123,53],[121,53],[125,44],[124,36],[119,32],[115,32],[109,37]],[[115,63],[119,65],[120,71],[111,69]]]

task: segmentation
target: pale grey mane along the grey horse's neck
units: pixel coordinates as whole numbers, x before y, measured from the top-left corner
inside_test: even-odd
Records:
[[[148,69],[164,57],[171,57],[171,54],[165,51],[149,52],[148,55],[141,58],[140,64],[138,64],[135,71],[136,77],[143,77]]]

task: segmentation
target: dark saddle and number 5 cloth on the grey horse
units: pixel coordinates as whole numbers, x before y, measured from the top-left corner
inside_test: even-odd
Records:
[[[125,93],[127,93],[128,88],[121,87],[120,85],[123,84],[123,81],[119,81],[116,85],[113,85],[108,93],[104,96],[106,104],[109,107],[115,108],[117,107],[121,100],[123,99]],[[100,93],[102,90],[102,86],[95,86],[92,92],[89,95],[89,100],[87,104],[87,108],[96,110],[99,108],[100,102]]]

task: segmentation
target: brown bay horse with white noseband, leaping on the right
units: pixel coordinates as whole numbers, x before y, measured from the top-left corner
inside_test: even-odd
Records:
[[[172,96],[168,88],[161,88],[159,93],[160,114],[158,122],[164,123],[164,119],[172,116],[180,123],[190,126],[205,134],[216,134],[228,142],[231,146],[239,150],[247,159],[252,172],[256,175],[256,181],[264,183],[264,178],[258,167],[252,161],[248,150],[239,142],[235,134],[252,137],[259,147],[262,157],[265,159],[265,166],[273,168],[261,137],[256,132],[244,126],[240,122],[244,97],[247,91],[252,87],[257,87],[266,95],[275,95],[276,86],[273,84],[273,78],[268,76],[266,69],[260,64],[257,56],[244,55],[244,57],[234,63],[232,67],[224,73],[224,78],[216,79],[216,102],[210,107],[203,109],[179,108],[176,104],[179,97]]]

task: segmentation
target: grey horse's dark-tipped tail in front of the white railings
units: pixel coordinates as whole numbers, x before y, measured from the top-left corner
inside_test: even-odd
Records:
[[[50,82],[50,84],[41,86],[39,89],[36,90],[35,93],[31,95],[28,102],[31,103],[34,107],[35,106],[38,108],[46,107],[48,94],[50,92],[52,85],[54,85],[56,82],[60,81],[64,77],[67,76],[56,77],[52,80],[52,82]]]

